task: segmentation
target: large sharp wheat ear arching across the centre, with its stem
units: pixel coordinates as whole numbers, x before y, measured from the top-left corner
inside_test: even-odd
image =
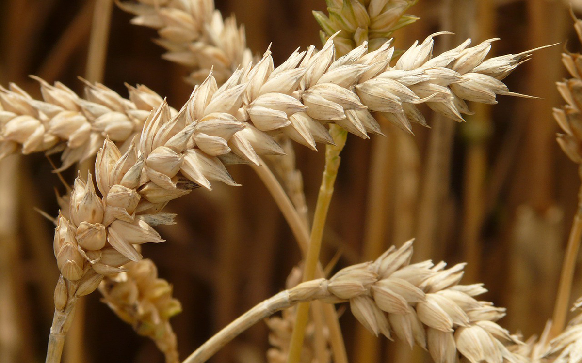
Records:
[[[427,102],[437,112],[455,116],[463,103],[453,89],[463,98],[495,102],[495,93],[512,94],[497,78],[506,76],[528,56],[526,52],[483,62],[488,41],[467,49],[468,42],[464,42],[431,58],[432,42],[431,36],[423,44],[413,45],[395,67],[389,67],[393,48],[388,45],[370,53],[361,46],[334,60],[330,39],[320,52],[314,53],[313,47],[295,52],[276,69],[267,52],[257,65],[235,72],[221,88],[209,76],[174,116],[162,102],[145,120],[139,140],[130,143],[123,155],[106,139],[95,163],[102,197],[90,177],[86,182],[77,178],[70,198],[70,218],[61,215],[55,230],[55,256],[65,281],[55,293],[47,362],[60,357],[76,298],[93,291],[102,275],[123,272],[119,267],[128,260],[140,260],[132,245],[162,242],[151,226],[172,221],[171,215],[159,213],[169,200],[189,193],[196,185],[210,188],[210,181],[235,185],[217,156],[226,162],[258,163],[257,152],[278,148],[261,130],[285,131],[293,125],[307,125],[306,137],[311,138],[311,130],[325,131],[320,122],[360,125],[365,133],[365,120],[371,118],[368,109],[408,122],[404,108],[416,110],[414,103]],[[481,73],[466,73],[469,70]],[[444,83],[450,88],[441,85]],[[16,99],[19,105],[36,105],[23,95]],[[52,104],[42,103],[45,105]],[[424,122],[418,115],[415,112],[409,117]],[[364,123],[359,117],[364,117]],[[4,144],[24,143],[35,131],[44,131],[40,120],[34,119],[34,128],[26,130],[20,120],[16,116],[5,124]],[[249,139],[239,137],[239,132]],[[180,178],[179,172],[187,179]]]

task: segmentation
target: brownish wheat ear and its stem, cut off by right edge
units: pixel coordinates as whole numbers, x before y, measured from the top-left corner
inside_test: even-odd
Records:
[[[582,21],[574,18],[574,28],[582,42]],[[579,67],[581,55],[576,53],[562,53],[562,62],[566,69],[572,75],[572,78],[563,82],[557,82],[558,91],[566,100],[567,105],[561,108],[553,109],[553,116],[565,132],[558,134],[558,143],[566,155],[579,164],[579,174],[582,179],[582,69]],[[578,193],[578,208],[570,230],[568,244],[564,262],[562,264],[562,273],[556,303],[552,317],[551,337],[557,336],[562,332],[566,324],[567,307],[570,301],[572,290],[572,281],[576,260],[582,238],[582,186]]]

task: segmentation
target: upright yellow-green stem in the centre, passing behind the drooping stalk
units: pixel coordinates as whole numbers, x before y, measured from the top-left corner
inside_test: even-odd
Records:
[[[317,195],[317,204],[315,205],[313,227],[311,228],[309,248],[305,258],[303,281],[309,281],[315,277],[315,269],[317,268],[320,258],[321,240],[323,238],[325,221],[327,220],[329,204],[331,203],[333,195],[333,184],[338,175],[340,163],[339,154],[342,152],[347,138],[347,131],[339,126],[331,125],[329,131],[333,136],[333,142],[335,145],[328,145],[325,148],[325,169],[324,175],[321,179],[320,192]],[[305,336],[305,328],[307,326],[308,312],[309,303],[302,303],[297,307],[297,315],[295,317],[295,324],[293,326],[293,333],[291,335],[289,346],[288,362],[290,363],[299,362],[301,347],[303,346],[303,338]]]

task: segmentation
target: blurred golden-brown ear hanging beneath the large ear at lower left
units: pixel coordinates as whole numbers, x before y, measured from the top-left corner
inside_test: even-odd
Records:
[[[124,265],[126,272],[107,276],[99,286],[103,301],[139,335],[154,340],[166,363],[178,363],[178,343],[169,318],[182,311],[172,298],[172,286],[158,278],[153,261],[143,259]]]

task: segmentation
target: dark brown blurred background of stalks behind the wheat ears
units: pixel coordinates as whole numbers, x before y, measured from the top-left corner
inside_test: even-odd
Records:
[[[320,45],[311,10],[325,10],[324,0],[217,0],[216,5],[223,16],[235,13],[246,25],[253,52],[263,53],[272,42],[275,62],[297,47]],[[0,84],[15,82],[39,97],[37,82],[27,77],[35,74],[82,92],[77,76],[86,73],[94,8],[95,0],[0,2]],[[322,264],[334,256],[339,256],[336,269],[370,260],[416,236],[413,261],[467,262],[463,282],[485,283],[489,292],[482,298],[508,308],[501,325],[526,338],[541,333],[552,314],[580,185],[576,165],[555,142],[558,127],[552,118],[552,107],[563,103],[555,87],[566,77],[560,53],[581,48],[569,11],[570,5],[558,0],[420,0],[409,10],[421,19],[395,33],[402,49],[439,30],[456,35],[438,37],[437,53],[467,37],[501,38],[491,55],[560,44],[535,53],[505,80],[510,90],[541,99],[500,96],[493,107],[470,105],[477,113],[467,116],[467,123],[437,119],[429,121],[432,130],[414,125],[414,136],[387,124],[382,125],[386,138],[350,135]],[[145,84],[180,107],[191,92],[183,82],[187,70],[162,60],[162,49],[151,42],[155,31],[132,26],[130,19],[113,7],[104,84],[123,96],[124,82]],[[429,120],[434,115],[423,112]],[[311,215],[324,155],[294,146]],[[182,302],[182,314],[172,319],[182,358],[282,290],[300,260],[285,220],[253,170],[229,171],[242,186],[197,189],[173,201],[168,211],[178,213],[178,223],[159,228],[168,242],[143,251]],[[63,177],[72,182],[74,171]],[[37,210],[58,213],[55,188],[65,192],[41,154],[0,161],[2,362],[44,361],[58,269],[54,226]],[[578,278],[573,298],[581,293]],[[154,343],[134,334],[100,302],[97,292],[85,299],[75,321],[64,362],[164,360]],[[352,361],[362,361],[356,322],[350,314],[340,322]],[[258,324],[215,361],[265,361],[267,335],[267,326]],[[400,343],[382,338],[378,344],[377,361],[423,359],[400,351]]]

